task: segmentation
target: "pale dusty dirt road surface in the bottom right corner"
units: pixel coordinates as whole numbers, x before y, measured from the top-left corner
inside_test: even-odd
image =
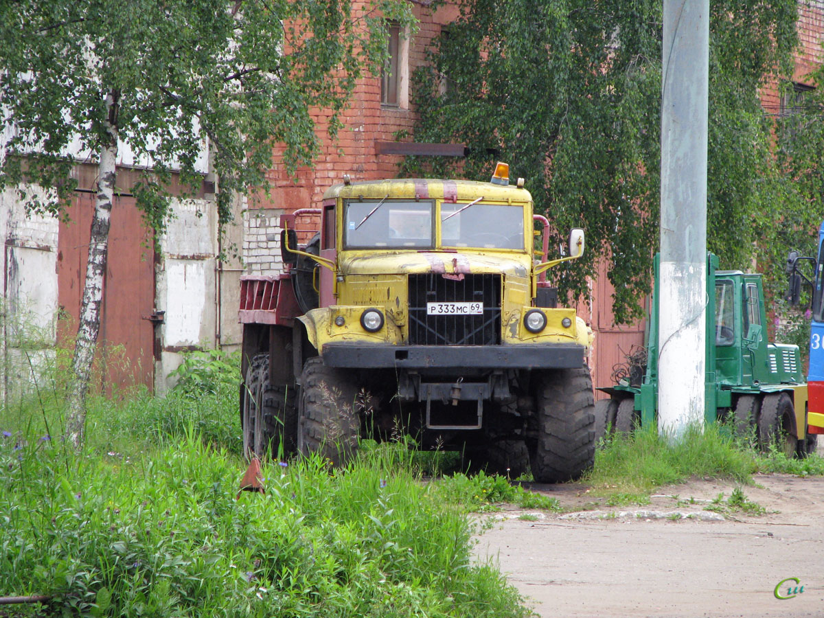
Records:
[[[754,480],[742,489],[763,515],[705,510],[735,489],[717,480],[667,486],[643,507],[606,506],[586,485],[532,484],[572,512],[505,509],[475,554],[542,618],[824,616],[824,478]],[[798,583],[781,596],[803,592],[778,599],[786,578]]]

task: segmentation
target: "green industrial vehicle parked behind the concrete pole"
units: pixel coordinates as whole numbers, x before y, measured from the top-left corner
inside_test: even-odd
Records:
[[[610,395],[596,402],[596,435],[607,428],[629,432],[655,422],[658,406],[658,262],[652,315],[648,318],[645,366],[629,372]],[[737,433],[755,431],[762,447],[779,441],[789,456],[815,447],[807,433],[807,384],[797,345],[766,341],[761,274],[718,270],[707,257],[705,422],[730,421]],[[714,311],[710,308],[714,307]]]

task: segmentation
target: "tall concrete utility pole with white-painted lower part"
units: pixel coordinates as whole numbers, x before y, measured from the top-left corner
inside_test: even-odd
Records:
[[[709,0],[663,0],[658,432],[705,411]]]

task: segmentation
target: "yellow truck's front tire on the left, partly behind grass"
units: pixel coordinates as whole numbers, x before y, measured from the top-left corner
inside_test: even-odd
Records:
[[[318,452],[334,466],[349,461],[360,438],[357,391],[351,372],[326,367],[321,357],[307,360],[298,410],[297,449],[302,455]]]

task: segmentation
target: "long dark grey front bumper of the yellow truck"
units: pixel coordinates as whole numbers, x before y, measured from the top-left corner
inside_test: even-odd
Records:
[[[584,346],[324,344],[329,367],[405,369],[572,369],[583,367]]]

